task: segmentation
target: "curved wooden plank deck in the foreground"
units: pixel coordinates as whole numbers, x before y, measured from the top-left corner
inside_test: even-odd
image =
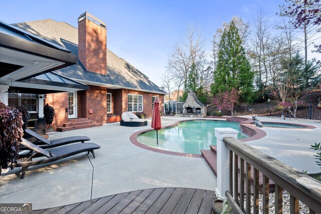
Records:
[[[33,213],[212,213],[214,191],[155,188],[109,195]]]

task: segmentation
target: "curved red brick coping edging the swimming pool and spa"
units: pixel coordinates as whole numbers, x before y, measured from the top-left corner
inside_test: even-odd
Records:
[[[227,121],[229,122],[236,122],[238,121],[240,123],[240,126],[248,131],[244,131],[245,134],[249,135],[250,137],[248,138],[243,138],[243,139],[239,139],[242,142],[247,142],[247,141],[252,141],[252,140],[258,140],[261,139],[263,137],[266,136],[266,132],[263,131],[260,128],[257,128],[255,126],[253,126],[253,121],[250,118],[244,118],[244,117],[205,117],[205,118],[212,118],[214,121],[215,119],[227,119]],[[167,127],[171,127],[171,126],[177,126],[180,122],[182,121],[190,121],[190,120],[202,120],[202,118],[194,118],[194,119],[187,119],[187,120],[181,120],[181,121],[176,121],[175,123],[171,124],[171,125],[167,125],[164,126],[162,128],[167,128]],[[216,121],[221,121],[221,120],[216,120]],[[264,121],[262,121],[264,122]],[[267,122],[268,123],[268,122]],[[273,123],[283,123],[283,122],[273,122]],[[284,123],[283,123],[284,124]],[[305,124],[296,124],[296,123],[285,123],[285,124],[289,124],[289,125],[300,125],[300,126],[304,126],[304,128],[299,128],[299,129],[314,129],[316,128],[315,126],[311,126],[311,125],[305,125]],[[162,154],[169,154],[169,155],[176,155],[176,156],[181,156],[181,157],[198,157],[198,158],[203,158],[203,156],[201,154],[191,154],[191,153],[182,153],[182,152],[173,152],[173,151],[166,151],[166,150],[162,150],[162,149],[156,149],[156,148],[152,148],[149,146],[146,146],[140,142],[138,142],[137,140],[137,136],[139,134],[145,133],[147,131],[151,131],[154,130],[152,128],[149,129],[145,129],[145,130],[141,130],[141,131],[137,131],[135,133],[133,133],[132,135],[130,135],[129,140],[132,144],[134,144],[135,146],[138,146],[140,148],[149,150],[149,151],[153,151],[153,152],[158,152],[158,153],[162,153]],[[246,133],[247,132],[247,133]]]

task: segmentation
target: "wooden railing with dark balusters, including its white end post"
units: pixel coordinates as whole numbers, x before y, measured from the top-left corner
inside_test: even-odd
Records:
[[[269,213],[269,180],[275,183],[275,213],[287,213],[282,205],[283,190],[290,194],[290,213],[299,213],[299,200],[309,207],[309,213],[321,213],[321,182],[237,140],[236,135],[234,129],[215,128],[216,193],[222,196],[225,192],[233,213],[259,213],[259,205],[263,213]],[[259,172],[263,174],[260,204]]]

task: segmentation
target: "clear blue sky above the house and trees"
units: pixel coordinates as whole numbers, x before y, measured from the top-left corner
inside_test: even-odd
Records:
[[[283,0],[15,0],[2,1],[0,20],[13,24],[50,18],[78,28],[78,17],[89,12],[106,23],[107,48],[161,86],[162,74],[188,23],[202,29],[209,54],[213,34],[224,22],[239,16],[252,25],[261,8],[272,24],[282,4]]]

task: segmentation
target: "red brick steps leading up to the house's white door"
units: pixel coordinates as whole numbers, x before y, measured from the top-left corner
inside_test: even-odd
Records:
[[[71,131],[76,129],[91,128],[102,126],[102,123],[97,123],[88,118],[69,119],[68,123],[64,123],[62,127],[57,127],[57,131]]]

